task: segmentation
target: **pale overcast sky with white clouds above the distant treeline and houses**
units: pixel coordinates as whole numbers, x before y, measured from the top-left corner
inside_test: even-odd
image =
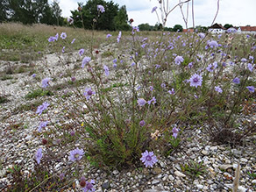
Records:
[[[50,2],[53,0],[50,0]],[[109,2],[110,0],[105,0]],[[185,1],[185,0],[183,0]],[[77,9],[77,2],[86,4],[86,0],[59,0],[62,17],[71,16],[70,11]],[[128,17],[133,18],[133,25],[146,24],[155,25],[158,22],[156,13],[151,13],[152,8],[160,17],[160,6],[158,0],[113,0],[119,6],[126,5]],[[165,0],[167,2],[167,0]],[[179,0],[169,0],[169,9],[178,4]],[[188,27],[192,26],[192,1],[188,4]],[[187,13],[187,4],[182,6],[184,14]],[[220,9],[215,23],[231,24],[235,26],[256,25],[256,0],[220,0]],[[210,26],[217,12],[217,0],[194,0],[195,25]],[[186,17],[186,16],[185,16]],[[161,19],[161,18],[160,18]],[[181,9],[177,7],[167,18],[167,27],[180,24],[185,27],[182,20]]]

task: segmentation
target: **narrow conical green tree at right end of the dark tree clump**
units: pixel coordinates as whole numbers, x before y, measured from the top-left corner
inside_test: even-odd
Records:
[[[114,23],[116,30],[128,31],[131,28],[131,26],[128,25],[128,15],[125,5],[123,5],[117,12],[117,16],[114,18]]]

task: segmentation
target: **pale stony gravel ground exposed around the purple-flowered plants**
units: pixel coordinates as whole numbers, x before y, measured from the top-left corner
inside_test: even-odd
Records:
[[[68,68],[75,68],[77,55],[73,55],[69,61]],[[65,60],[65,58],[62,58]],[[63,71],[60,68],[58,57],[54,54],[47,55],[47,66],[51,68],[54,75],[61,75]],[[81,61],[77,62],[80,67]],[[1,61],[0,71],[4,71],[8,66],[21,65],[15,62]],[[29,64],[24,64],[29,66]],[[42,60],[34,63],[34,68],[41,71],[44,76],[48,75],[46,65]],[[76,76],[84,77],[85,73],[82,69],[76,71]],[[65,78],[62,78],[64,81]],[[63,101],[59,107],[50,107],[47,114],[38,117],[35,114],[36,108],[32,110],[18,111],[21,104],[34,103],[36,101],[44,102],[46,100],[56,101],[54,96],[40,97],[37,99],[25,99],[25,95],[35,86],[35,79],[28,73],[13,74],[11,79],[1,82],[1,92],[7,96],[9,102],[1,103],[0,111],[0,189],[4,190],[4,182],[11,181],[8,167],[14,164],[25,163],[24,170],[30,170],[34,166],[34,153],[40,146],[41,140],[36,132],[40,118],[51,120],[55,123],[60,123],[62,113],[61,106],[66,106],[70,103]],[[39,81],[40,83],[40,81]],[[61,82],[51,82],[54,86]],[[39,84],[40,85],[40,84]],[[84,89],[84,87],[82,87]],[[72,91],[72,89],[61,89],[60,92]],[[245,118],[245,117],[241,117]],[[255,116],[250,117],[255,121]],[[61,122],[62,123],[62,122]],[[67,120],[64,123],[70,123]],[[16,125],[15,125],[16,124]],[[18,125],[21,124],[21,125]],[[50,129],[51,126],[48,127]],[[134,170],[117,171],[113,170],[110,173],[94,167],[89,167],[89,170],[84,173],[87,179],[96,181],[96,191],[231,191],[232,182],[234,179],[235,169],[238,163],[241,165],[240,174],[240,191],[256,191],[256,179],[250,177],[248,172],[256,173],[256,153],[255,139],[256,137],[245,140],[243,146],[218,146],[215,143],[209,142],[209,138],[203,130],[192,129],[186,134],[188,139],[182,142],[179,151],[168,157],[158,156],[158,163],[153,168],[136,168]],[[253,143],[254,141],[254,143]],[[75,144],[79,146],[79,142]],[[56,165],[58,170],[63,164],[68,163],[68,151],[63,160]],[[196,163],[203,162],[205,172],[193,177],[188,172],[182,172],[181,166],[189,164],[193,160]],[[80,191],[78,181],[75,181],[77,188],[75,191]],[[68,191],[68,190],[67,190]],[[74,189],[70,189],[74,191]]]

